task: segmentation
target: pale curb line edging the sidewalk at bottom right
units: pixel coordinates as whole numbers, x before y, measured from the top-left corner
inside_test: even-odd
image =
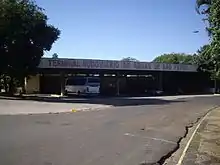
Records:
[[[199,126],[200,126],[200,125],[202,124],[202,122],[206,119],[206,117],[212,112],[213,109],[216,109],[216,107],[210,109],[210,111],[199,121],[199,123],[198,123],[198,125],[196,126],[195,130],[193,131],[193,133],[192,133],[192,135],[191,135],[189,141],[187,142],[187,144],[186,144],[186,146],[185,146],[185,148],[184,148],[184,150],[183,150],[183,152],[182,152],[182,154],[181,154],[181,156],[180,156],[180,159],[179,159],[177,165],[181,165],[181,164],[182,164],[183,159],[184,159],[184,157],[185,157],[185,155],[186,155],[186,151],[188,150],[189,145],[190,145],[190,143],[192,142],[193,137],[195,136],[197,130],[199,129]]]

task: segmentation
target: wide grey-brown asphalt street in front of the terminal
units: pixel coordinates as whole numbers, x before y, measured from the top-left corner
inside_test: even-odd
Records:
[[[7,102],[1,100],[0,110]],[[27,104],[44,108],[43,102]],[[218,104],[219,96],[144,98],[102,111],[0,115],[0,164],[156,164],[177,149],[187,125]],[[17,101],[10,101],[13,106],[18,108]]]

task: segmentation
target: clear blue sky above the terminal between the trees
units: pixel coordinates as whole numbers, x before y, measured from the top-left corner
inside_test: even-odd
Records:
[[[60,39],[45,56],[151,61],[208,42],[195,0],[36,0]],[[199,30],[200,33],[193,33]]]

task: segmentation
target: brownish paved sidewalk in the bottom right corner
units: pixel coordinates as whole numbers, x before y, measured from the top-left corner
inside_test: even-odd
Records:
[[[182,165],[220,165],[220,108],[202,121]]]

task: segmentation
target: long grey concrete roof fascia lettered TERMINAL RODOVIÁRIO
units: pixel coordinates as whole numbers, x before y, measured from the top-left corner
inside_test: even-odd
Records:
[[[67,69],[109,69],[109,70],[152,70],[196,72],[197,66],[136,61],[89,60],[89,59],[51,59],[43,58],[40,68]]]

